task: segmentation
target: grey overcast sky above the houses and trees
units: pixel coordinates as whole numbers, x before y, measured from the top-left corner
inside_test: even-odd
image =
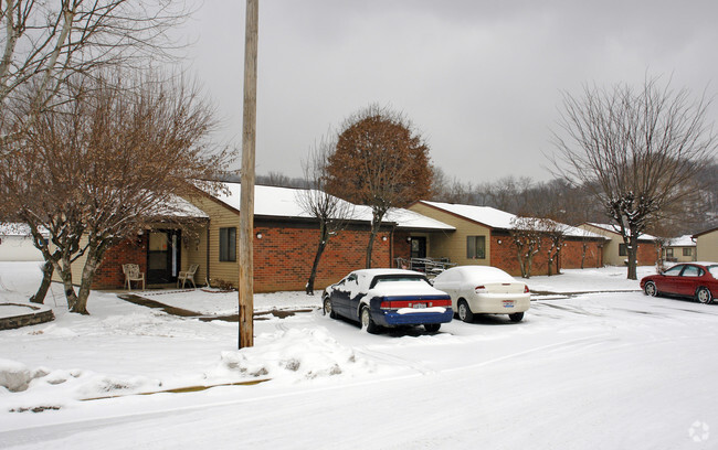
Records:
[[[204,0],[186,26],[191,71],[237,144],[244,15],[244,1]],[[716,0],[260,0],[256,172],[300,176],[315,141],[378,103],[448,176],[548,180],[562,92],[650,73],[715,95],[717,18]]]

